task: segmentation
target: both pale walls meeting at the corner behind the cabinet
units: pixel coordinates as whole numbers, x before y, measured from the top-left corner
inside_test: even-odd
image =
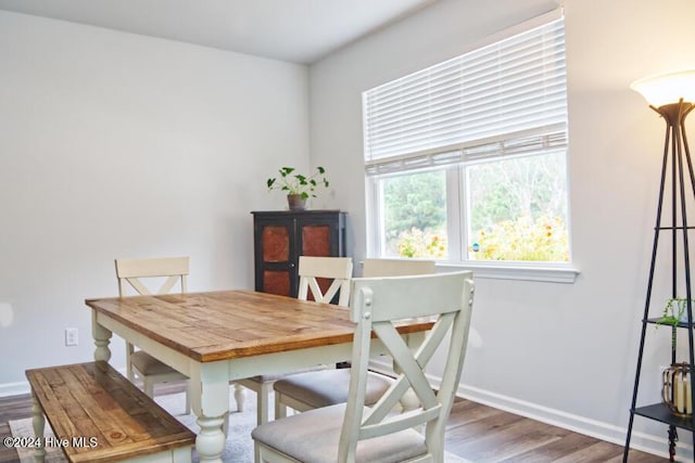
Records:
[[[628,87],[695,66],[695,3],[564,4],[581,274],[480,279],[462,391],[621,441],[664,130]],[[362,258],[362,91],[554,5],[441,0],[312,66],[311,93],[302,66],[0,12],[0,395],[27,368],[91,359],[84,299],[116,294],[114,257],[186,254],[192,291],[251,287],[249,211],[285,207],[265,178],[308,164],[309,142],[332,183],[313,207],[348,210],[349,253]],[[78,347],[63,346],[67,326]],[[644,402],[658,400],[668,361],[667,331],[649,333]],[[666,450],[664,426],[635,429]]]

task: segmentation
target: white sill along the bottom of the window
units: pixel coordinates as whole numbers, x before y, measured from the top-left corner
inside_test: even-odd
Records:
[[[548,283],[574,283],[579,270],[567,263],[525,266],[523,263],[502,262],[438,262],[438,270],[472,270],[475,278],[493,280],[523,280]]]

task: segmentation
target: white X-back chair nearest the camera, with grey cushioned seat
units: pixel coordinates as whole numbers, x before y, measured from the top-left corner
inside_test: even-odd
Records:
[[[361,278],[352,282],[351,320],[356,323],[348,402],[309,410],[257,426],[251,434],[258,461],[323,463],[444,461],[446,421],[466,353],[473,293],[472,273]],[[397,322],[435,318],[425,340],[412,350]],[[394,384],[366,406],[371,337],[376,335],[400,366]],[[426,369],[445,356],[435,390]],[[414,391],[420,406],[397,413]],[[425,426],[425,432],[419,429]]]

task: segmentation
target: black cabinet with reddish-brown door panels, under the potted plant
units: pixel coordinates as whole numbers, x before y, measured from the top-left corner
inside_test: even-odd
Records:
[[[251,214],[256,291],[296,297],[299,256],[345,256],[345,213],[279,210]]]

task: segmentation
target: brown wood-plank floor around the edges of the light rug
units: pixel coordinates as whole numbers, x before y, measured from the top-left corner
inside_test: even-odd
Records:
[[[10,436],[10,420],[31,415],[28,395],[0,398],[0,438]],[[539,423],[469,400],[458,400],[446,428],[446,450],[476,463],[618,463],[622,447],[560,427]],[[0,447],[0,463],[16,462],[14,449]],[[631,463],[667,462],[630,451]]]

